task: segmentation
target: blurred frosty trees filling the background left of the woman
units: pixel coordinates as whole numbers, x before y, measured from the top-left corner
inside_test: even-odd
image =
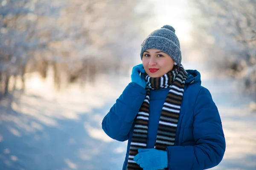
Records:
[[[83,84],[102,72],[124,73],[142,41],[148,14],[142,0],[1,0],[0,98],[25,86],[25,74],[47,77],[57,88]],[[138,41],[139,39],[139,41]],[[129,43],[128,43],[129,42]],[[129,62],[127,62],[129,61]]]

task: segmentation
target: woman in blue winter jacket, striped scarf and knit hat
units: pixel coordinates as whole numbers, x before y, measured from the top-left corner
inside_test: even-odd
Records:
[[[113,139],[128,140],[123,170],[204,170],[220,163],[225,138],[218,109],[200,73],[184,70],[172,26],[141,45],[143,64],[102,121]]]

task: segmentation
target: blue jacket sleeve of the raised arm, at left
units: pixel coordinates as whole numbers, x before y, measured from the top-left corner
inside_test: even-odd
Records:
[[[146,95],[146,90],[136,83],[129,83],[102,120],[102,129],[112,139],[126,141],[128,133]]]

